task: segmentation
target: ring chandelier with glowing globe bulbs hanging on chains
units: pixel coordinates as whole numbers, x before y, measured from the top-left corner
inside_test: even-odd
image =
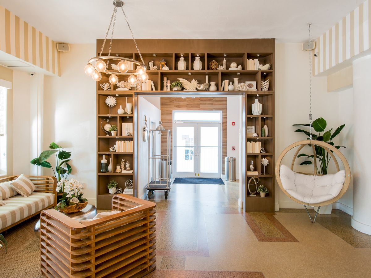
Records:
[[[103,41],[101,52],[99,53],[98,57],[93,57],[88,61],[88,64],[85,66],[85,69],[84,69],[85,73],[86,73],[86,75],[91,76],[93,78],[93,80],[95,80],[95,81],[101,80],[102,79],[102,73],[106,73],[106,74],[110,75],[108,80],[109,80],[109,83],[111,83],[111,84],[117,84],[118,83],[118,76],[117,75],[129,75],[128,82],[132,86],[135,86],[135,84],[137,83],[137,80],[139,80],[141,82],[147,82],[147,80],[148,80],[148,74],[146,73],[147,68],[144,64],[144,60],[142,58],[142,54],[139,51],[137,42],[134,39],[134,35],[133,35],[133,32],[131,31],[129,21],[126,17],[125,11],[122,8],[122,6],[124,5],[124,2],[122,2],[121,0],[114,0],[113,4],[114,4],[115,8],[114,8],[114,11],[112,13],[111,20],[109,21],[108,30],[106,32],[106,36],[105,36],[104,41]],[[122,13],[124,13],[126,23],[128,24],[131,37],[133,38],[135,47],[138,50],[138,54],[139,54],[139,57],[141,59],[141,62],[139,62],[137,60],[133,60],[133,59],[124,58],[124,57],[111,56],[112,39],[114,37],[116,13],[117,13],[117,8],[118,7],[121,7]],[[104,46],[106,44],[106,40],[107,40],[107,37],[108,37],[109,30],[111,29],[111,25],[112,25],[112,34],[111,34],[111,40],[109,42],[108,56],[102,56],[102,52],[103,52]],[[104,60],[107,60],[107,62],[104,62]],[[109,65],[109,60],[118,60],[118,63],[117,63],[118,72],[112,72],[112,71],[107,70],[108,69],[107,65]],[[95,62],[95,64],[93,66],[94,62]],[[138,65],[137,69],[135,70],[135,74],[134,74],[134,72],[128,72],[128,70],[129,70],[129,63],[128,62]]]

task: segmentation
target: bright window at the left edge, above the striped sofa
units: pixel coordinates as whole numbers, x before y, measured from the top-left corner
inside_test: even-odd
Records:
[[[0,86],[0,175],[6,175],[6,90]]]

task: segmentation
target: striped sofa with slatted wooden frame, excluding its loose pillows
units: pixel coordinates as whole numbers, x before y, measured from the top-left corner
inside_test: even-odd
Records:
[[[44,209],[53,208],[57,202],[55,177],[27,176],[36,186],[36,190],[28,197],[18,194],[10,186],[16,178],[18,176],[0,179],[0,195],[6,203],[0,206],[0,233],[39,214]]]

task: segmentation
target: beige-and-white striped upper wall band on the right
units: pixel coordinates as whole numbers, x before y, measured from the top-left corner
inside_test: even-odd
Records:
[[[316,41],[313,73],[318,75],[371,47],[370,0],[332,26]]]

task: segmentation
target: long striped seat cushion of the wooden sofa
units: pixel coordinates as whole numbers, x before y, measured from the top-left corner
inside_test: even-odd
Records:
[[[54,194],[52,193],[32,193],[27,198],[21,195],[10,197],[5,205],[0,206],[0,230],[42,211],[53,203]]]

